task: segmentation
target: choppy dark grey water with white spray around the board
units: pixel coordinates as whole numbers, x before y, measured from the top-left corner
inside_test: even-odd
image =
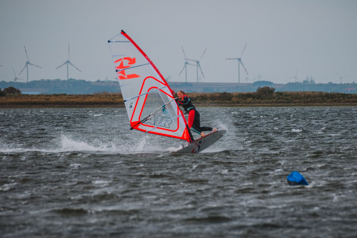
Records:
[[[357,237],[357,107],[199,110],[228,132],[195,155],[125,108],[0,110],[0,237]]]

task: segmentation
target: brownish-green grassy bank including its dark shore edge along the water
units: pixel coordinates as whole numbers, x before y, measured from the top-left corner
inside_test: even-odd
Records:
[[[357,106],[357,94],[328,92],[187,93],[195,106]],[[0,108],[124,107],[121,93],[40,94],[0,97]]]

